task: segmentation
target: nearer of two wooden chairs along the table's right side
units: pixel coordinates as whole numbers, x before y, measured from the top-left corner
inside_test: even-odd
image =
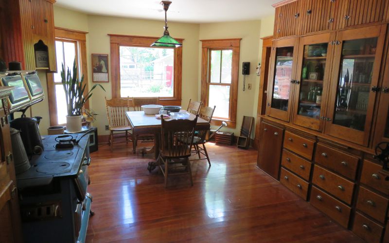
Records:
[[[213,108],[212,107],[201,107],[198,116],[200,118],[204,119],[205,121],[211,122],[215,108],[216,108],[216,105],[213,106]],[[205,148],[205,142],[206,142],[205,137],[207,135],[207,132],[208,132],[208,130],[196,131],[195,137],[193,139],[192,153],[197,154],[198,159],[192,159],[192,161],[207,159],[209,166],[211,166],[210,157],[208,156],[207,149]],[[201,145],[202,148],[200,148],[199,145]],[[201,155],[205,156],[205,158],[201,158]]]

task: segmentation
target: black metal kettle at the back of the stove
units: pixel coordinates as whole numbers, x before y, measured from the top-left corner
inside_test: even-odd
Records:
[[[24,148],[28,156],[39,154],[43,150],[42,137],[39,132],[41,117],[21,117],[10,122],[12,128],[20,131]]]

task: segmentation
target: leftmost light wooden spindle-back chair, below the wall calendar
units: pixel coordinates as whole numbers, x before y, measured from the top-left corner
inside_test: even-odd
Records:
[[[106,97],[105,97],[106,99]],[[128,134],[131,131],[131,127],[128,125],[128,121],[125,118],[125,112],[130,110],[130,99],[127,98],[112,98],[106,99],[106,116],[108,118],[109,126],[109,145],[111,151],[113,151],[113,144],[120,142],[114,141],[114,138],[125,138],[125,142],[131,141]],[[119,135],[119,136],[115,136]]]

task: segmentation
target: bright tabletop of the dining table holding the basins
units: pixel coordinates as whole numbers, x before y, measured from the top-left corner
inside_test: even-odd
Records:
[[[185,110],[181,110],[181,112],[186,112]],[[188,112],[187,112],[188,113]],[[188,113],[189,119],[194,120],[195,115]],[[127,111],[126,116],[128,121],[131,123],[132,127],[143,127],[143,126],[160,126],[161,120],[157,119],[155,115],[146,115],[143,111]],[[171,121],[172,119],[165,119],[165,121]],[[208,121],[204,119],[197,118],[197,124],[209,124]]]

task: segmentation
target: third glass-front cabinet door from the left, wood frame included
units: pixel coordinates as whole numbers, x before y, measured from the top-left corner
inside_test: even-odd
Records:
[[[338,32],[325,133],[368,145],[385,32],[385,25]]]

